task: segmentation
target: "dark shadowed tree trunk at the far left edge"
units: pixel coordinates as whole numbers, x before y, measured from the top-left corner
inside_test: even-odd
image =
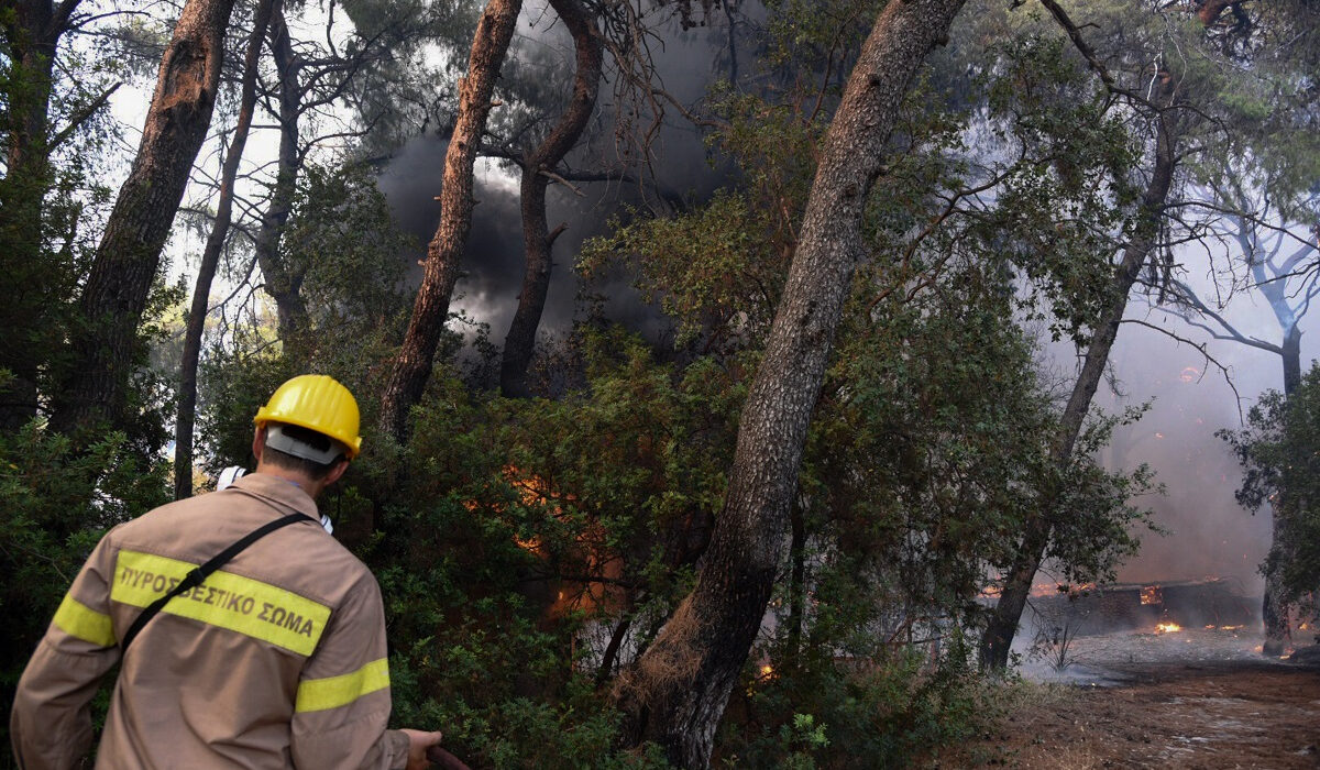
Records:
[[[79,0],[18,0],[0,25],[11,55],[5,135],[5,176],[0,178],[0,431],[15,431],[37,415],[37,378],[59,324],[59,279],[42,258],[42,201],[50,188],[50,95],[55,52]]]

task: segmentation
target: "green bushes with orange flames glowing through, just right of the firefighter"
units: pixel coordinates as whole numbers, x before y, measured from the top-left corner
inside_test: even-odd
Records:
[[[479,765],[663,766],[612,749],[602,635],[685,590],[676,540],[718,505],[731,437],[698,404],[734,400],[718,372],[675,378],[636,341],[582,345],[589,390],[556,402],[477,398],[437,371],[408,446],[360,461],[376,503],[359,553],[407,672],[397,718],[446,725]]]

